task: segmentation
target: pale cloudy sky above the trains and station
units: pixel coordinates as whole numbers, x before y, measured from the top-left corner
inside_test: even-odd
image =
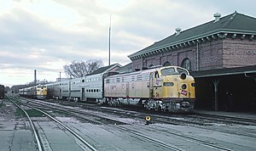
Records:
[[[131,53],[235,11],[256,18],[255,0],[0,0],[0,84],[67,77],[72,61],[129,64]],[[111,24],[110,24],[111,18]]]

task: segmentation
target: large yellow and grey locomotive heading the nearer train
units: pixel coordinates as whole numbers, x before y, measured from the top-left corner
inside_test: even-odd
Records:
[[[195,80],[178,66],[108,76],[102,103],[140,105],[170,112],[190,111],[195,103]]]

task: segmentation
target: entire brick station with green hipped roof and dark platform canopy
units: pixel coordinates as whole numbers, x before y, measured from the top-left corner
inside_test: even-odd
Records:
[[[195,77],[195,108],[256,111],[256,18],[213,17],[132,53],[131,68],[182,66]]]

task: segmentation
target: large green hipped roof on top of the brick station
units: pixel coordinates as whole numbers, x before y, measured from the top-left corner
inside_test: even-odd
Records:
[[[256,35],[256,19],[234,12],[219,18],[218,21],[212,20],[188,30],[180,31],[179,34],[174,33],[172,36],[168,36],[159,42],[154,42],[151,46],[143,48],[137,53],[132,53],[128,57],[132,60],[138,56],[148,55],[148,53],[152,52],[157,53],[161,49],[172,48],[184,42],[193,42],[203,37],[209,39],[219,33]]]

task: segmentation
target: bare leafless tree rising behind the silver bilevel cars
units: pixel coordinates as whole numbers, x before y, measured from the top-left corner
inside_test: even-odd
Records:
[[[86,76],[103,66],[102,59],[84,61],[72,61],[63,66],[68,77],[77,78]]]

